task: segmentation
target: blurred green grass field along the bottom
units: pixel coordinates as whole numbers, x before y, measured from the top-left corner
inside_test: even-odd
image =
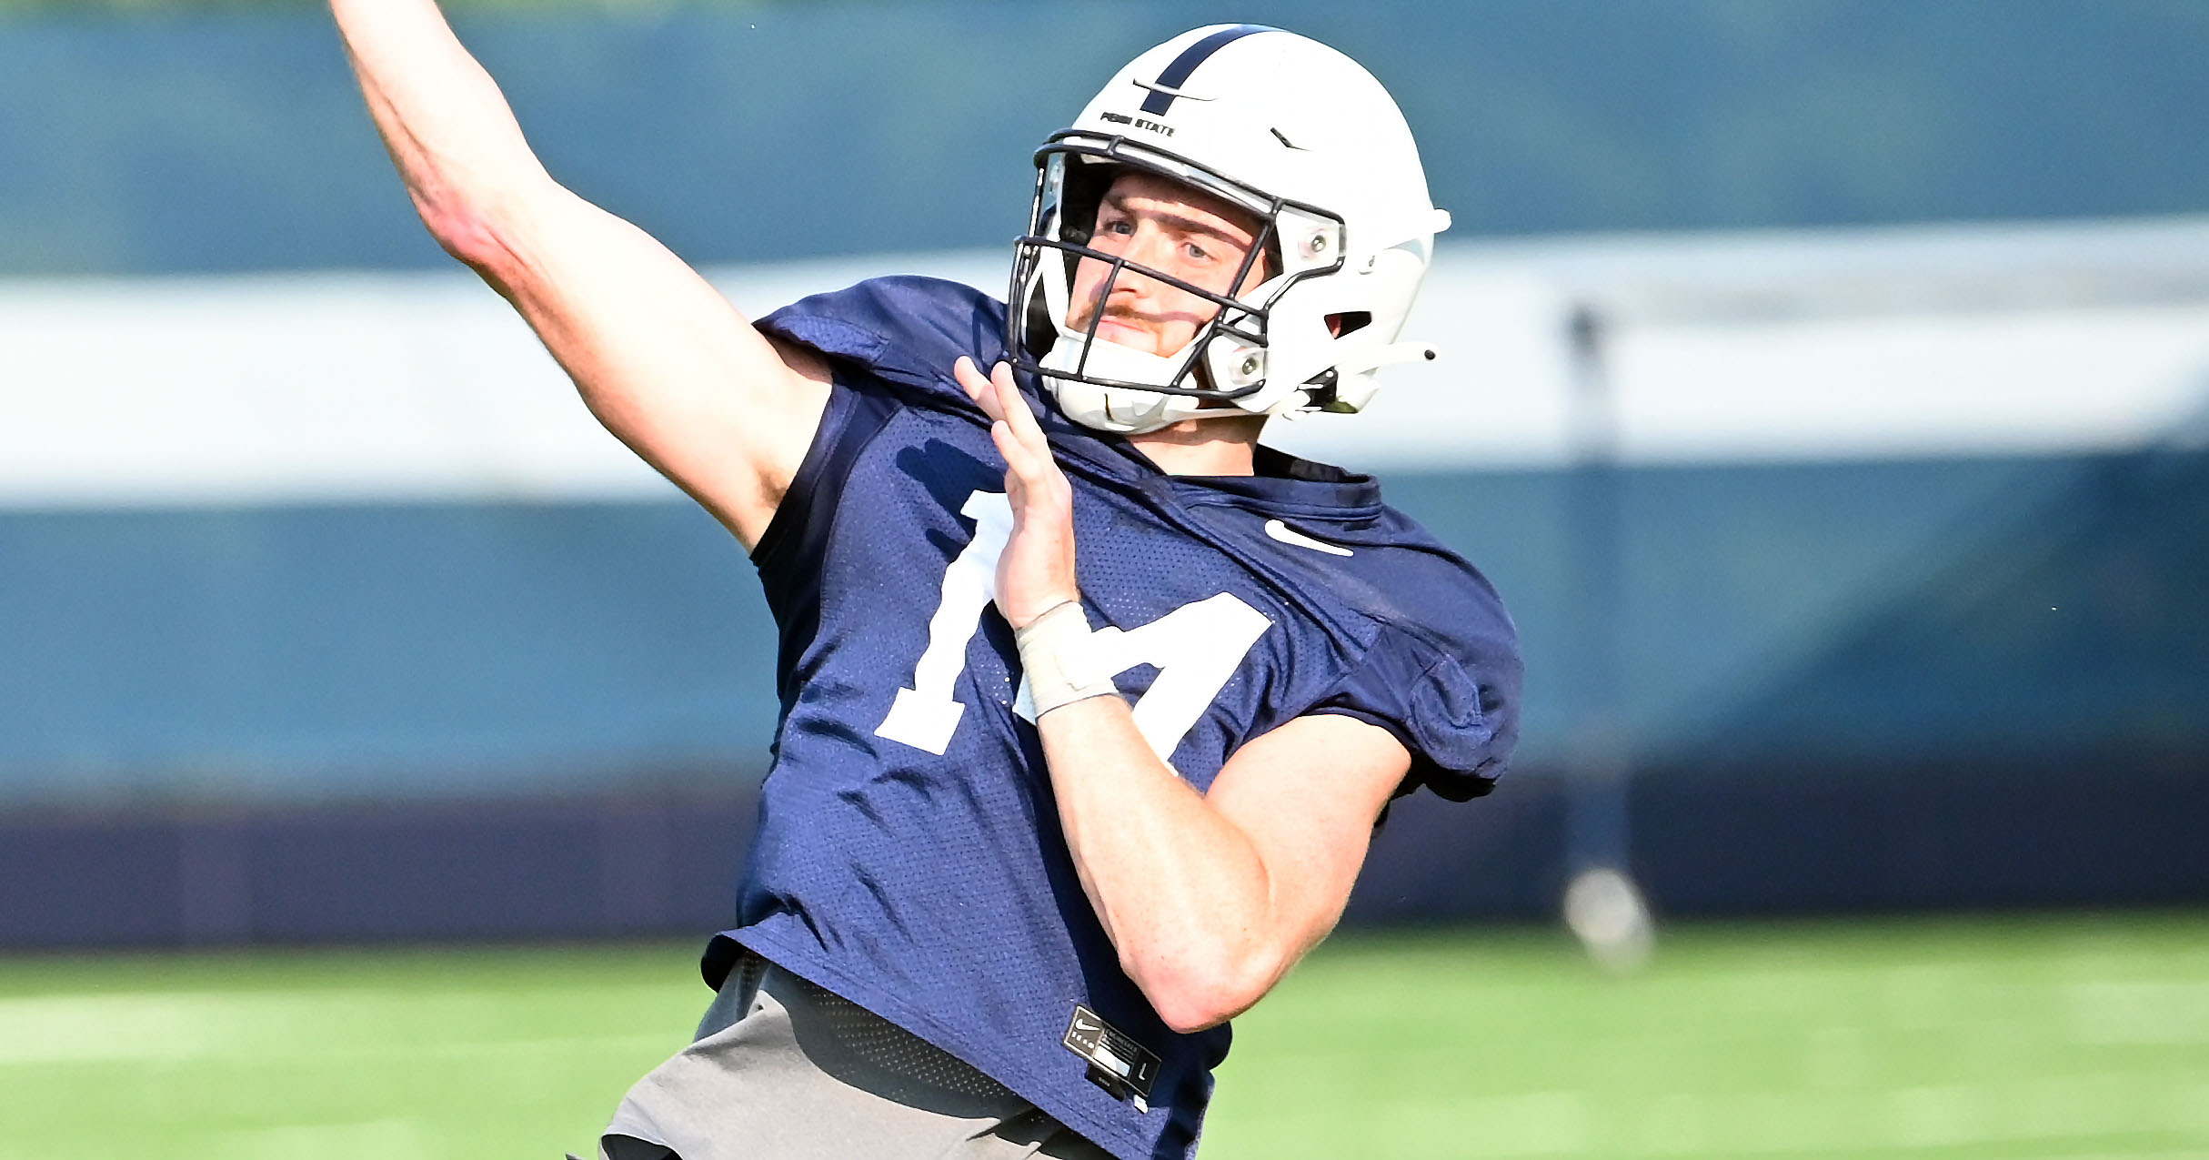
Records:
[[[585,1151],[694,946],[0,959],[4,1158]],[[2209,1156],[2209,915],[1345,937],[1237,1021],[1204,1156]]]

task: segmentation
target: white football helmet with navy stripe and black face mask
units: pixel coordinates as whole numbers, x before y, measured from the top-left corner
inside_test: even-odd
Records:
[[[1257,217],[1239,298],[1089,247],[1122,168],[1149,170]],[[1158,431],[1204,415],[1359,411],[1389,362],[1436,358],[1396,342],[1449,214],[1427,199],[1412,128],[1359,62],[1294,33],[1213,24],[1135,57],[1074,128],[1036,152],[1036,199],[1016,243],[1007,338],[1076,422]],[[1069,325],[1074,270],[1113,263],[1219,305],[1171,356]],[[1111,281],[1104,283],[1104,292]],[[1222,402],[1233,407],[1222,407]]]

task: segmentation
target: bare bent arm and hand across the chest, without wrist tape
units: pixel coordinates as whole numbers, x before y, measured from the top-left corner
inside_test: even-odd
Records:
[[[1027,628],[1078,599],[1071,491],[1010,369],[983,380],[961,360],[956,376],[996,420],[1014,519],[996,603]],[[1412,764],[1381,727],[1306,716],[1237,749],[1199,795],[1118,696],[1054,707],[1036,729],[1082,890],[1122,970],[1180,1032],[1257,1003],[1334,928]]]

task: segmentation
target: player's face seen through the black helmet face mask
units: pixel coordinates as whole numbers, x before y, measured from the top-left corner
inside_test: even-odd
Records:
[[[1233,285],[1255,241],[1255,214],[1180,181],[1131,170],[1104,190],[1089,247],[1233,296],[1261,281],[1261,270],[1253,267],[1241,287]],[[1111,270],[1111,263],[1098,259],[1082,259],[1074,270],[1069,327],[1087,331],[1102,309],[1098,338],[1144,354],[1173,354],[1219,312],[1213,303],[1135,270],[1122,270],[1118,278]]]

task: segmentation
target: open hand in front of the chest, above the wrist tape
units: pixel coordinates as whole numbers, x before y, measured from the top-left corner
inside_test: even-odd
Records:
[[[1005,457],[1012,539],[996,557],[996,610],[1012,628],[1027,628],[1051,608],[1080,599],[1074,581],[1074,488],[1051,460],[1051,444],[1014,387],[1010,365],[998,362],[983,378],[974,360],[961,356],[952,373],[990,415],[990,437]]]

